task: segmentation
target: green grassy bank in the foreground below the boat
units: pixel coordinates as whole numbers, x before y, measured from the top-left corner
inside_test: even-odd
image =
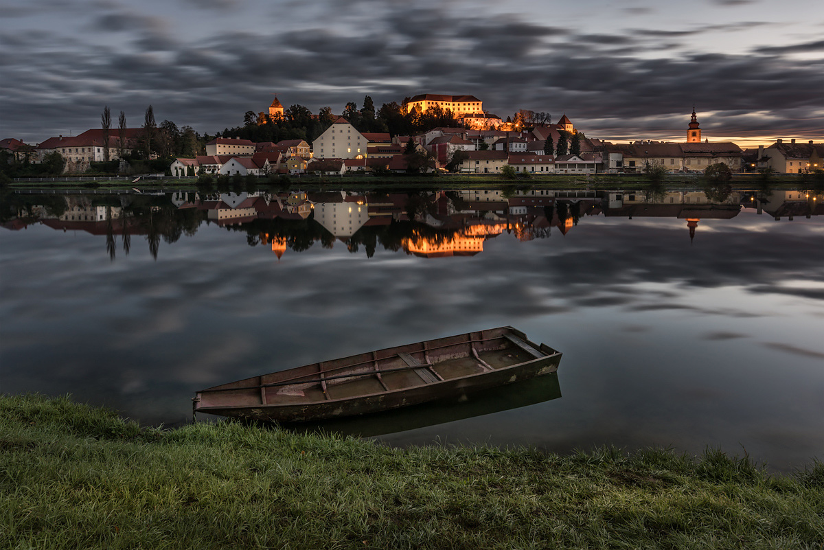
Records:
[[[3,548],[822,548],[824,464],[398,450],[0,397]]]

